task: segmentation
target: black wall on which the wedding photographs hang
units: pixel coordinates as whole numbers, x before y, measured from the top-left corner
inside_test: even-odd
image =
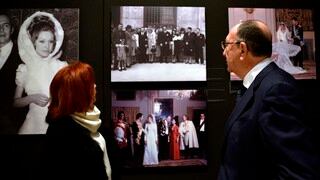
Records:
[[[111,83],[110,71],[110,19],[112,6],[199,6],[206,8],[207,82],[153,82],[153,83]],[[2,5],[3,6],[3,5]],[[113,179],[157,180],[157,179],[216,179],[220,150],[223,143],[224,123],[234,106],[235,91],[240,81],[230,82],[222,56],[220,41],[228,34],[228,7],[253,8],[308,8],[313,9],[316,39],[316,61],[319,69],[319,23],[320,9],[311,0],[10,0],[2,8],[79,8],[79,59],[90,63],[96,73],[97,102],[101,110],[106,141],[112,138],[111,90],[124,89],[194,89],[206,88],[208,93],[208,166],[199,168],[145,168],[121,169],[112,167]],[[319,73],[317,73],[319,79]],[[3,82],[2,82],[3,83]],[[319,136],[320,100],[319,80],[299,80],[306,101],[306,121]],[[44,135],[0,136],[0,179],[33,179],[43,162]],[[110,147],[110,148],[109,148]],[[109,157],[114,150],[108,144]],[[42,167],[43,168],[43,167]],[[50,176],[50,175],[46,175]],[[45,176],[43,179],[46,179]]]

